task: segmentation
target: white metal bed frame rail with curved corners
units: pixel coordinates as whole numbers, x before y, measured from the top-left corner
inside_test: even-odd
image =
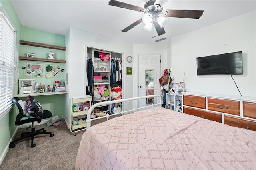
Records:
[[[120,102],[125,102],[125,101],[133,101],[133,100],[139,100],[139,99],[146,99],[146,98],[153,98],[153,97],[158,97],[159,98],[159,103],[157,104],[152,104],[152,105],[147,105],[147,106],[143,106],[143,107],[140,107],[140,108],[133,108],[132,110],[128,110],[128,111],[121,111],[119,113],[114,113],[114,114],[107,114],[106,116],[102,116],[102,117],[96,117],[96,118],[93,118],[91,119],[91,113],[93,112],[93,109],[95,109],[96,107],[99,107],[99,106],[105,106],[105,105],[110,105],[110,104],[113,104],[113,103],[120,103]],[[157,100],[155,100],[157,101]],[[127,99],[118,99],[118,100],[112,100],[112,101],[104,101],[104,102],[99,102],[99,103],[95,103],[94,105],[92,105],[90,107],[90,109],[88,110],[88,113],[87,113],[87,119],[86,119],[86,129],[89,129],[91,127],[91,121],[93,120],[97,120],[97,119],[102,119],[102,118],[107,118],[107,121],[108,121],[108,118],[110,116],[114,116],[114,115],[124,115],[124,113],[134,113],[136,110],[139,110],[139,109],[149,109],[149,108],[152,108],[154,106],[157,106],[159,105],[159,107],[161,107],[162,105],[162,102],[161,102],[161,96],[160,95],[149,95],[149,96],[141,96],[141,97],[133,97],[133,98],[127,98]]]

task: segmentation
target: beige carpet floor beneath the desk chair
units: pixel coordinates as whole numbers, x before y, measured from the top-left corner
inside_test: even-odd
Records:
[[[98,121],[98,120],[97,120]],[[98,122],[93,122],[95,125]],[[47,126],[46,124],[35,126],[36,130],[45,128],[54,134],[53,137],[38,135],[34,138],[36,147],[31,148],[31,139],[27,138],[16,143],[10,148],[0,166],[1,170],[74,170],[76,153],[82,134],[85,131],[74,134],[66,127]],[[19,129],[15,139],[22,132],[30,132],[31,128]]]

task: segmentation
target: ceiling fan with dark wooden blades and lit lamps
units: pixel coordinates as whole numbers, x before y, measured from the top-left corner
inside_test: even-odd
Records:
[[[130,29],[134,28],[141,22],[145,24],[144,29],[151,31],[152,26],[156,28],[158,36],[165,34],[164,24],[167,22],[168,18],[166,17],[178,17],[178,18],[194,18],[199,19],[204,10],[164,10],[163,5],[168,0],[149,0],[144,4],[144,8],[135,6],[132,4],[127,4],[117,0],[110,0],[108,5],[117,6],[120,8],[126,8],[129,10],[134,10],[138,12],[143,12],[142,18],[132,23],[130,26],[124,28],[122,32],[127,32]]]

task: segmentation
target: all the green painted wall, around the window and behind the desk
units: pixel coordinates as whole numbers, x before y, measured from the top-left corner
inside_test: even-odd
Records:
[[[28,28],[22,26],[18,16],[12,6],[12,2],[10,0],[1,1],[1,5],[6,10],[9,18],[11,19],[12,23],[16,27],[17,30],[17,51],[19,52],[20,56],[26,56],[27,52],[34,52],[35,57],[38,58],[45,58],[47,59],[48,52],[54,52],[54,58],[65,60],[65,51],[55,50],[55,49],[47,49],[41,47],[32,47],[28,45],[20,45],[20,40],[26,40],[31,42],[38,42],[38,43],[46,43],[50,45],[58,45],[58,46],[65,46],[65,36],[60,34],[54,34],[42,30],[36,30],[34,28]],[[34,62],[34,61],[32,61]],[[22,66],[26,65],[28,61],[20,60],[19,61],[19,79],[35,79],[38,83],[43,84],[54,84],[55,80],[65,80],[66,73],[65,71],[62,72],[58,77],[52,77],[47,79],[43,72],[41,77],[26,77],[24,74],[24,70],[21,68]],[[52,63],[48,62],[40,62],[37,61],[35,64],[43,64],[43,65],[52,65]],[[60,68],[64,69],[64,64],[54,63],[54,65],[60,66]],[[14,95],[18,94],[18,83],[14,84]],[[42,105],[43,109],[50,110],[53,115],[62,116],[64,115],[64,99],[65,95],[45,95],[45,96],[35,96],[40,104]],[[22,100],[26,100],[26,97],[20,97]],[[0,119],[0,155],[2,156],[4,149],[8,146],[10,138],[14,134],[17,126],[14,124],[16,115],[18,113],[17,107],[13,107],[11,111]]]

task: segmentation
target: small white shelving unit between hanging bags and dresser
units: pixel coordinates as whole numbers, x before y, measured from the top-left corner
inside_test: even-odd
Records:
[[[166,105],[171,110],[182,112],[182,94],[166,93]]]

